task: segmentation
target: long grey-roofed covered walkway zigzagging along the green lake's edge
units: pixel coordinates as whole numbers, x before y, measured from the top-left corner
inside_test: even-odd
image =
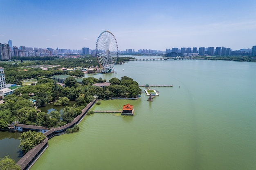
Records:
[[[46,136],[45,140],[38,144],[33,149],[29,150],[21,159],[18,161],[18,165],[21,170],[29,170],[29,168],[34,164],[34,162],[39,158],[39,156],[45,151],[48,147],[48,139],[51,139],[54,136],[62,135],[66,132],[68,128],[72,128],[74,125],[79,124],[80,121],[85,117],[86,113],[90,108],[95,104],[96,100],[94,99],[90,102],[83,110],[81,115],[78,115],[74,120],[64,126],[59,128],[52,128],[44,133]]]

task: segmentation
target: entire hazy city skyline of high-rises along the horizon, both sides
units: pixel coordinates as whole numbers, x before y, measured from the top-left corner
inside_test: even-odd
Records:
[[[230,56],[230,55],[256,55],[256,46],[253,46],[252,49],[240,49],[240,50],[231,50],[230,48],[222,47],[182,47],[182,48],[172,48],[166,49],[166,53],[173,53],[174,55],[178,54],[180,56],[195,56],[195,55],[216,55],[216,56]],[[53,55],[65,55],[65,54],[83,54],[95,55],[96,51],[89,49],[88,47],[83,47],[81,50],[70,50],[70,49],[52,49],[46,48],[41,49],[37,47],[26,47],[26,46],[13,46],[12,41],[9,40],[8,44],[0,43],[0,60],[11,60],[12,56],[17,57],[33,57],[33,56],[53,56]],[[152,50],[152,49],[139,49],[135,51],[134,49],[126,49],[126,51],[118,51],[119,54],[153,54],[158,55],[164,53],[164,51]]]

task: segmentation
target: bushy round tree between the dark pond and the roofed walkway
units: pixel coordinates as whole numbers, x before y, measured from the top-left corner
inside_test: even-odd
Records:
[[[27,153],[29,150],[40,144],[44,139],[45,135],[41,132],[28,131],[23,132],[20,137],[20,146],[22,151]]]

